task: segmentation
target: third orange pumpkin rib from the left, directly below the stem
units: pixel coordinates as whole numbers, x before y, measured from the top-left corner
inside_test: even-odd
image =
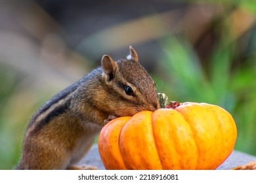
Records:
[[[182,114],[173,108],[162,108],[154,112],[153,118],[153,127],[158,132],[155,135],[156,146],[163,169],[194,169],[198,150],[192,130]]]

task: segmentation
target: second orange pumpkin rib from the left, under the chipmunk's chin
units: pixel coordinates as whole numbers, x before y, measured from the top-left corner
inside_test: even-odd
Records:
[[[144,110],[135,114],[123,126],[119,144],[128,169],[161,168],[150,127],[151,117],[152,111]]]

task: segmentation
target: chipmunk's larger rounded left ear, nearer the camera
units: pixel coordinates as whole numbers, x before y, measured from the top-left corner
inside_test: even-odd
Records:
[[[101,66],[105,76],[107,77],[107,80],[112,80],[118,67],[117,63],[110,56],[104,55],[101,59]]]

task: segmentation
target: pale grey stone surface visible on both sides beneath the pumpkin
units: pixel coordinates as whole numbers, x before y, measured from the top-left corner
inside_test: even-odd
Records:
[[[249,163],[249,161],[256,161],[256,157],[234,150],[226,161],[217,168],[217,170],[230,170],[239,165]],[[93,165],[100,170],[104,170],[104,165],[102,164],[100,155],[98,154],[98,146],[96,144],[93,145],[87,156],[85,156],[78,165]]]

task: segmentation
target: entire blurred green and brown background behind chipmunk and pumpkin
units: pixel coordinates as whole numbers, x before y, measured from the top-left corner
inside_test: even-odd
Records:
[[[0,1],[0,169],[33,113],[132,45],[173,101],[219,105],[256,156],[256,1]]]

